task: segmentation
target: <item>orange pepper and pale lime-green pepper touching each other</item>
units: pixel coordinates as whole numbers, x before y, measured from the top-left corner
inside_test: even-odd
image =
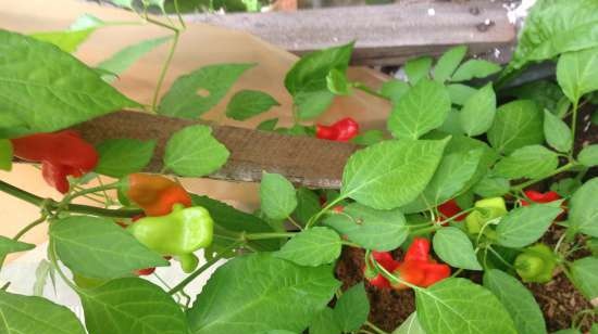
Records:
[[[135,239],[166,258],[174,257],[185,272],[199,260],[194,252],[212,243],[214,221],[201,206],[192,206],[191,196],[177,182],[160,175],[132,174],[123,192],[144,209],[145,217],[126,227]],[[152,273],[148,268],[137,274]]]

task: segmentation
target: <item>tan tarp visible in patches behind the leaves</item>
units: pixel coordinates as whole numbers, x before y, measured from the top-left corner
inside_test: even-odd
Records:
[[[140,22],[138,16],[126,11],[100,7],[75,0],[27,0],[1,1],[0,28],[24,34],[66,29],[78,16],[92,14],[108,22]],[[95,31],[77,51],[77,56],[89,65],[109,57],[122,48],[145,39],[167,36],[170,30],[151,24],[109,26]],[[126,95],[150,104],[159,72],[166,57],[169,44],[164,44],[144,56],[126,70],[115,86]],[[232,92],[239,89],[258,89],[272,94],[282,106],[272,110],[248,123],[237,123],[223,117],[228,97],[204,115],[223,124],[252,127],[265,118],[279,117],[283,125],[291,121],[291,99],[284,89],[284,77],[297,56],[267,44],[245,33],[226,30],[201,24],[189,24],[182,35],[173,65],[169,72],[164,90],[179,75],[200,66],[217,63],[257,63],[234,86]],[[386,77],[367,68],[351,68],[350,77],[378,87]],[[344,115],[360,120],[365,128],[384,127],[383,119],[389,106],[385,101],[357,92],[349,98],[338,98],[332,108],[322,117],[322,121],[333,121]],[[32,166],[16,166],[10,174],[0,172],[0,179],[36,193],[40,196],[58,197],[58,193],[47,187],[40,172]],[[240,207],[251,208],[259,204],[257,184],[233,183],[213,180],[185,180],[192,192],[208,194],[227,201]],[[22,227],[38,217],[33,205],[0,193],[0,234],[12,236]],[[28,233],[24,241],[40,243],[47,239],[46,226]]]

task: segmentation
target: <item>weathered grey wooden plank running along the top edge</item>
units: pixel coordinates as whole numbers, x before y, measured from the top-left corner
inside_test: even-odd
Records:
[[[500,1],[400,1],[396,4],[298,12],[196,14],[191,22],[251,33],[296,54],[356,41],[353,64],[399,64],[468,44],[470,52],[501,50],[515,41],[515,27]]]

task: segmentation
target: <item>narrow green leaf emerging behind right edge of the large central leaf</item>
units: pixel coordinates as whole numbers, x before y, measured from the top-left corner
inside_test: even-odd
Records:
[[[446,154],[423,193],[402,207],[403,213],[419,213],[436,207],[466,189],[477,172],[483,150]]]

